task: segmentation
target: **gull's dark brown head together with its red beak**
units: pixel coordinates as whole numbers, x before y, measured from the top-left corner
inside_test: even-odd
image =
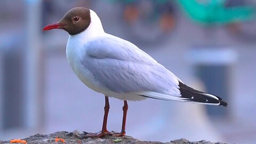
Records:
[[[90,9],[75,7],[69,10],[59,22],[47,25],[43,30],[63,29],[69,35],[76,35],[87,29],[90,23]]]

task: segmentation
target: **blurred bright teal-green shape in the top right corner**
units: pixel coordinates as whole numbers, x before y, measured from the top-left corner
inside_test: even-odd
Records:
[[[189,16],[205,25],[228,24],[253,19],[255,7],[251,5],[225,7],[226,0],[178,0]]]

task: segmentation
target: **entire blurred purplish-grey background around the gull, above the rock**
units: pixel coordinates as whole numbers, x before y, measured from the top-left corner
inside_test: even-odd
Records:
[[[127,135],[256,142],[254,0],[1,1],[0,140],[101,130],[105,99],[71,71],[68,34],[42,31],[77,6],[97,12],[106,33],[134,43],[189,86],[228,102],[129,101]],[[122,106],[110,98],[108,130],[121,130]]]

